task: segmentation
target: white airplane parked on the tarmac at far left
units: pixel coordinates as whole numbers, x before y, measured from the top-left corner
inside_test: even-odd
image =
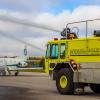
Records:
[[[0,58],[0,75],[11,75],[11,72],[15,72],[15,76],[18,75],[20,68],[25,68],[27,64],[27,57],[9,57]]]

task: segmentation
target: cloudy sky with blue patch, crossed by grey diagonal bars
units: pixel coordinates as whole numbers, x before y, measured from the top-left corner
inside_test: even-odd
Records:
[[[100,0],[0,0],[0,16],[29,20],[62,30],[68,22],[100,18]],[[0,20],[0,31],[12,34],[45,50],[59,33]],[[24,45],[0,35],[0,56],[23,55]],[[44,52],[28,46],[28,55]]]

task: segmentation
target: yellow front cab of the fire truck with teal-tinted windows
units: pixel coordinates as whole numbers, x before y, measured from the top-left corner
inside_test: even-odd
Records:
[[[49,75],[52,74],[53,69],[59,62],[66,62],[67,54],[67,41],[54,39],[47,44],[46,57],[45,57],[45,72]]]

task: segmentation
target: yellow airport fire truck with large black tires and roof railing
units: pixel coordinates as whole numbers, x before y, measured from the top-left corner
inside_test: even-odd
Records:
[[[94,25],[98,26],[97,29],[89,28],[90,22],[99,20],[69,23],[61,33],[60,40],[54,38],[48,42],[45,71],[53,75],[61,94],[82,93],[85,86],[90,86],[93,92],[100,93],[100,24]],[[85,37],[84,33],[74,26],[81,23],[85,25],[85,28],[82,28],[86,32]],[[89,30],[93,30],[93,36],[88,36]]]

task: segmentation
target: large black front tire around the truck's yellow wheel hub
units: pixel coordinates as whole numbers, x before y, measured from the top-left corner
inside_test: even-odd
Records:
[[[64,88],[60,85],[61,77],[65,76],[67,78],[67,84]],[[56,78],[56,87],[61,94],[73,94],[74,93],[74,83],[73,83],[73,73],[71,69],[63,68],[61,69]]]

